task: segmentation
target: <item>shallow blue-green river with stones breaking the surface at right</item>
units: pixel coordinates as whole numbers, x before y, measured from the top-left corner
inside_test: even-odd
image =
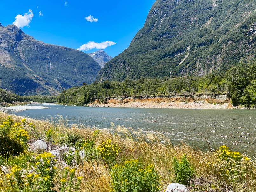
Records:
[[[47,109],[8,110],[18,116],[50,119],[58,115],[71,124],[109,128],[110,122],[149,132],[161,132],[172,144],[188,143],[201,150],[226,145],[256,156],[256,110],[149,109],[47,105]],[[58,115],[57,115],[58,114]],[[239,137],[240,136],[240,137]],[[246,138],[247,137],[247,138]],[[243,141],[238,143],[235,141]]]

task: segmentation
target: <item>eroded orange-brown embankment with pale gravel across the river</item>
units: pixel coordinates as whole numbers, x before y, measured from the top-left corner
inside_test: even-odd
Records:
[[[230,109],[230,99],[224,93],[173,94],[157,96],[109,97],[105,103],[97,100],[88,106],[98,107],[140,107],[170,109]]]

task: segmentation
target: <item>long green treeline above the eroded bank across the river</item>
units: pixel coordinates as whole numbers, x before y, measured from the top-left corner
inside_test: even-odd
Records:
[[[228,94],[233,105],[256,105],[256,64],[232,66],[226,73],[207,76],[186,76],[123,82],[104,81],[82,87],[73,87],[58,96],[58,102],[68,105],[85,105],[96,99],[105,103],[107,98],[116,96],[150,96],[176,93],[222,92]]]

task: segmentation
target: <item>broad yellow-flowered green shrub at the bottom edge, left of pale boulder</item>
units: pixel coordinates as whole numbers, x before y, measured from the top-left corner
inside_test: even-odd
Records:
[[[138,160],[116,164],[110,174],[114,192],[156,192],[160,189],[160,176],[154,166],[144,167]]]

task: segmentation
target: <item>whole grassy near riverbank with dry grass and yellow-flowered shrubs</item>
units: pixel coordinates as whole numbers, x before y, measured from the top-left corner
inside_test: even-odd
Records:
[[[6,166],[0,171],[0,191],[156,192],[172,182],[190,191],[256,191],[255,157],[225,146],[202,152],[182,143],[165,144],[162,134],[114,125],[68,128],[61,118],[52,124],[0,113],[0,125],[0,163]],[[33,149],[37,139],[52,149],[67,145],[76,150],[57,158],[49,150]]]

